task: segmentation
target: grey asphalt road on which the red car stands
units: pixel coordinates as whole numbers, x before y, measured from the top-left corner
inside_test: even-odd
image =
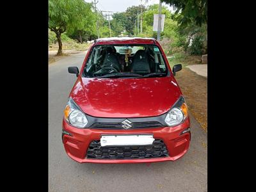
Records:
[[[61,120],[85,52],[49,65],[49,191],[207,191],[207,134],[191,116],[191,145],[177,161],[140,164],[79,164],[65,153]]]

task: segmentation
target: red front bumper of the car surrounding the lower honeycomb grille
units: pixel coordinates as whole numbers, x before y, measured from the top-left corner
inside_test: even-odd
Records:
[[[175,161],[184,156],[189,148],[190,131],[181,134],[189,128],[189,118],[175,127],[159,127],[150,129],[108,130],[108,129],[77,129],[67,124],[63,119],[63,130],[71,135],[63,134],[65,150],[71,159],[79,163],[153,163],[159,161]],[[147,159],[87,159],[86,152],[93,140],[100,140],[101,134],[153,134],[154,138],[164,141],[168,149],[167,157],[152,157]]]

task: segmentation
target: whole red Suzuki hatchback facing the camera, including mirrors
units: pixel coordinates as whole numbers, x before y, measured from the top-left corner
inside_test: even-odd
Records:
[[[70,92],[62,141],[79,163],[175,161],[188,151],[188,107],[154,38],[100,38]]]

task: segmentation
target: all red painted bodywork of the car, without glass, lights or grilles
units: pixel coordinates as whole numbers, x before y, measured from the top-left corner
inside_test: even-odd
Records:
[[[163,53],[163,59],[170,70],[170,77],[134,78],[134,79],[97,79],[81,77],[90,51],[95,45],[111,44],[156,44]],[[105,118],[138,118],[159,116],[166,113],[179,99],[182,93],[173,77],[168,60],[159,43],[152,38],[108,38],[98,40],[88,50],[77,81],[70,92],[70,97],[87,115]],[[65,134],[63,144],[69,157],[79,163],[152,163],[175,161],[184,156],[189,148],[190,132],[180,136],[188,129],[189,117],[175,127],[150,129],[108,130],[77,129],[63,119]],[[93,140],[100,140],[101,134],[153,134],[154,138],[164,141],[169,156],[151,159],[86,159],[88,145]]]

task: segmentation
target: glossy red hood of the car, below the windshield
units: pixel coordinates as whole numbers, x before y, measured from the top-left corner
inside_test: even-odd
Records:
[[[70,96],[90,116],[131,118],[166,113],[181,95],[173,77],[78,77]]]

